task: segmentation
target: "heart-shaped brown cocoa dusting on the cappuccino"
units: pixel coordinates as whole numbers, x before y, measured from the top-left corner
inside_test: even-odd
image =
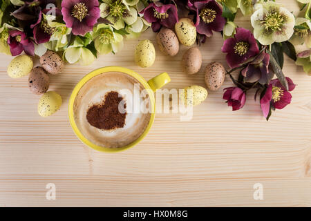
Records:
[[[88,108],[86,119],[88,123],[101,130],[112,130],[115,128],[122,128],[125,124],[125,113],[120,113],[119,104],[123,97],[119,97],[119,93],[111,91],[106,93],[103,104],[95,104]],[[126,103],[124,102],[124,109]]]

